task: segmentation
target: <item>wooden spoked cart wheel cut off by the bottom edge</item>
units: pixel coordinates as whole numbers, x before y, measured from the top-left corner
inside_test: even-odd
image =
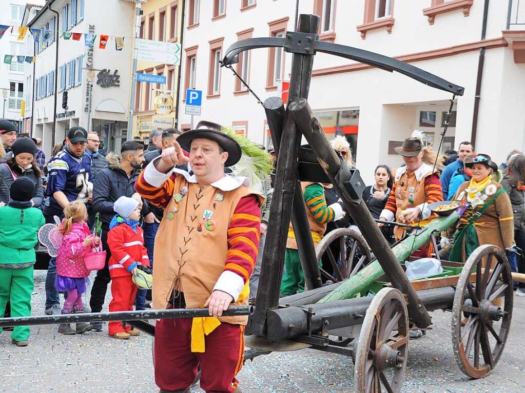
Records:
[[[408,312],[400,291],[383,288],[366,310],[355,356],[358,393],[399,393],[408,354]]]

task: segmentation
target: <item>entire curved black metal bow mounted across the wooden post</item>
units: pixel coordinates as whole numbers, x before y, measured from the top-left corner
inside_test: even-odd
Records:
[[[303,35],[303,38],[304,39],[301,42],[301,33],[293,32],[293,35],[288,34],[286,38],[262,37],[248,38],[237,41],[226,50],[226,55],[222,61],[222,65],[234,64],[238,61],[237,55],[239,53],[256,48],[282,47],[285,48],[285,51],[296,52],[297,49],[294,50],[294,48],[298,48],[298,46],[302,45],[304,47],[302,48],[304,52],[297,51],[297,53],[305,53],[308,51],[308,48],[306,48],[308,46],[306,43],[307,36]],[[312,43],[310,42],[309,45],[312,45]],[[310,49],[312,48],[310,47]],[[411,64],[407,64],[391,57],[383,56],[382,54],[318,40],[315,41],[314,49],[318,52],[333,54],[335,56],[344,57],[345,59],[369,64],[372,67],[380,68],[386,71],[396,71],[406,75],[409,78],[415,79],[418,82],[456,95],[463,95],[465,91],[465,88],[448,82],[445,79],[439,78],[434,74],[422,70],[421,68],[414,67]]]

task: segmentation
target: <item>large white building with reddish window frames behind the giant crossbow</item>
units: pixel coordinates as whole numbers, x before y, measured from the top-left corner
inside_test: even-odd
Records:
[[[269,144],[264,111],[229,70],[217,67],[217,59],[238,39],[283,36],[293,30],[295,3],[186,2],[181,88],[203,90],[202,116],[195,123],[209,119],[232,125],[250,139]],[[322,40],[394,57],[464,86],[465,95],[454,102],[442,151],[475,139],[478,152],[501,162],[510,150],[525,149],[525,31],[520,30],[525,5],[517,0],[489,2],[482,38],[484,3],[303,0],[299,13],[321,16]],[[485,53],[477,104],[481,48]],[[280,80],[289,79],[291,54],[256,49],[240,60],[237,72],[261,100],[280,95]],[[400,165],[393,148],[414,129],[425,132],[437,147],[451,97],[404,75],[327,54],[318,53],[313,63],[310,105],[329,138],[340,134],[349,140],[367,183],[377,164]],[[178,125],[188,128],[184,105],[182,100]]]

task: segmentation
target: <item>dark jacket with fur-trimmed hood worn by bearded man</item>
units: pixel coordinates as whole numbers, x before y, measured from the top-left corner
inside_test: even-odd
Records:
[[[100,213],[100,221],[109,224],[116,214],[113,210],[114,202],[121,196],[131,197],[135,193],[135,180],[140,171],[135,169],[128,175],[119,166],[119,159],[113,153],[108,154],[108,168],[97,174],[97,182],[93,183],[93,211]],[[148,203],[142,199],[141,216],[150,212]]]

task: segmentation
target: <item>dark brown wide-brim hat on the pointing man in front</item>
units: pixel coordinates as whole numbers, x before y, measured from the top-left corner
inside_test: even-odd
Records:
[[[220,129],[222,129],[222,126],[217,123],[206,121],[198,122],[197,128],[191,129],[179,135],[177,137],[177,142],[184,150],[190,151],[193,139],[203,138],[213,140],[228,152],[228,159],[224,163],[224,166],[231,167],[232,165],[235,165],[237,162],[239,162],[240,156],[243,154],[243,152],[241,151],[237,141],[234,138],[222,133]]]

